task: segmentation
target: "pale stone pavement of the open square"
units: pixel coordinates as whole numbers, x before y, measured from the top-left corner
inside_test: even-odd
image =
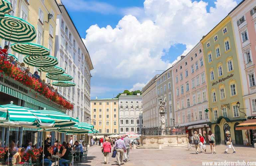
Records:
[[[180,166],[180,165],[202,165],[204,161],[254,161],[256,162],[256,148],[236,147],[236,154],[229,149],[229,154],[225,154],[226,146],[217,145],[216,154],[211,154],[210,146],[206,145],[206,153],[195,154],[195,148],[169,148],[169,149],[133,149],[130,151],[130,161],[124,166]],[[109,156],[109,164],[104,164],[104,156],[98,145],[93,145],[88,150],[88,163],[81,165],[117,165],[116,158]]]

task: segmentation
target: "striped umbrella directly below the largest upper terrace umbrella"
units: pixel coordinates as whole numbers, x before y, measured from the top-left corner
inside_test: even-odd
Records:
[[[40,44],[26,42],[26,43],[14,43],[10,46],[14,52],[23,55],[50,55],[50,50]]]

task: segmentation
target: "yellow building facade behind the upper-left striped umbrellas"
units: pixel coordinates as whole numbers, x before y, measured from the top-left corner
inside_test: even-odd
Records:
[[[61,14],[56,0],[9,0],[12,3],[12,16],[20,17],[35,27],[37,38],[34,43],[41,44],[50,49],[50,55],[54,56],[55,30],[57,15]],[[1,40],[1,46],[8,45],[8,41]],[[10,51],[9,51],[10,53]],[[13,53],[13,52],[12,52]],[[24,55],[18,55],[19,62],[23,62]],[[30,72],[34,73],[37,68],[30,66]],[[45,79],[45,73],[42,73]]]

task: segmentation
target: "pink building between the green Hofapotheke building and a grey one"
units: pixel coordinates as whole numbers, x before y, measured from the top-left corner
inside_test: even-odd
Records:
[[[202,44],[199,42],[185,57],[173,66],[176,125],[186,126],[205,138],[210,122],[207,83]]]

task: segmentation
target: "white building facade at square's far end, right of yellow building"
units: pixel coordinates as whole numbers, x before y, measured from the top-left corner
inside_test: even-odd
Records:
[[[121,94],[119,96],[119,133],[141,134],[142,127],[142,96]]]

